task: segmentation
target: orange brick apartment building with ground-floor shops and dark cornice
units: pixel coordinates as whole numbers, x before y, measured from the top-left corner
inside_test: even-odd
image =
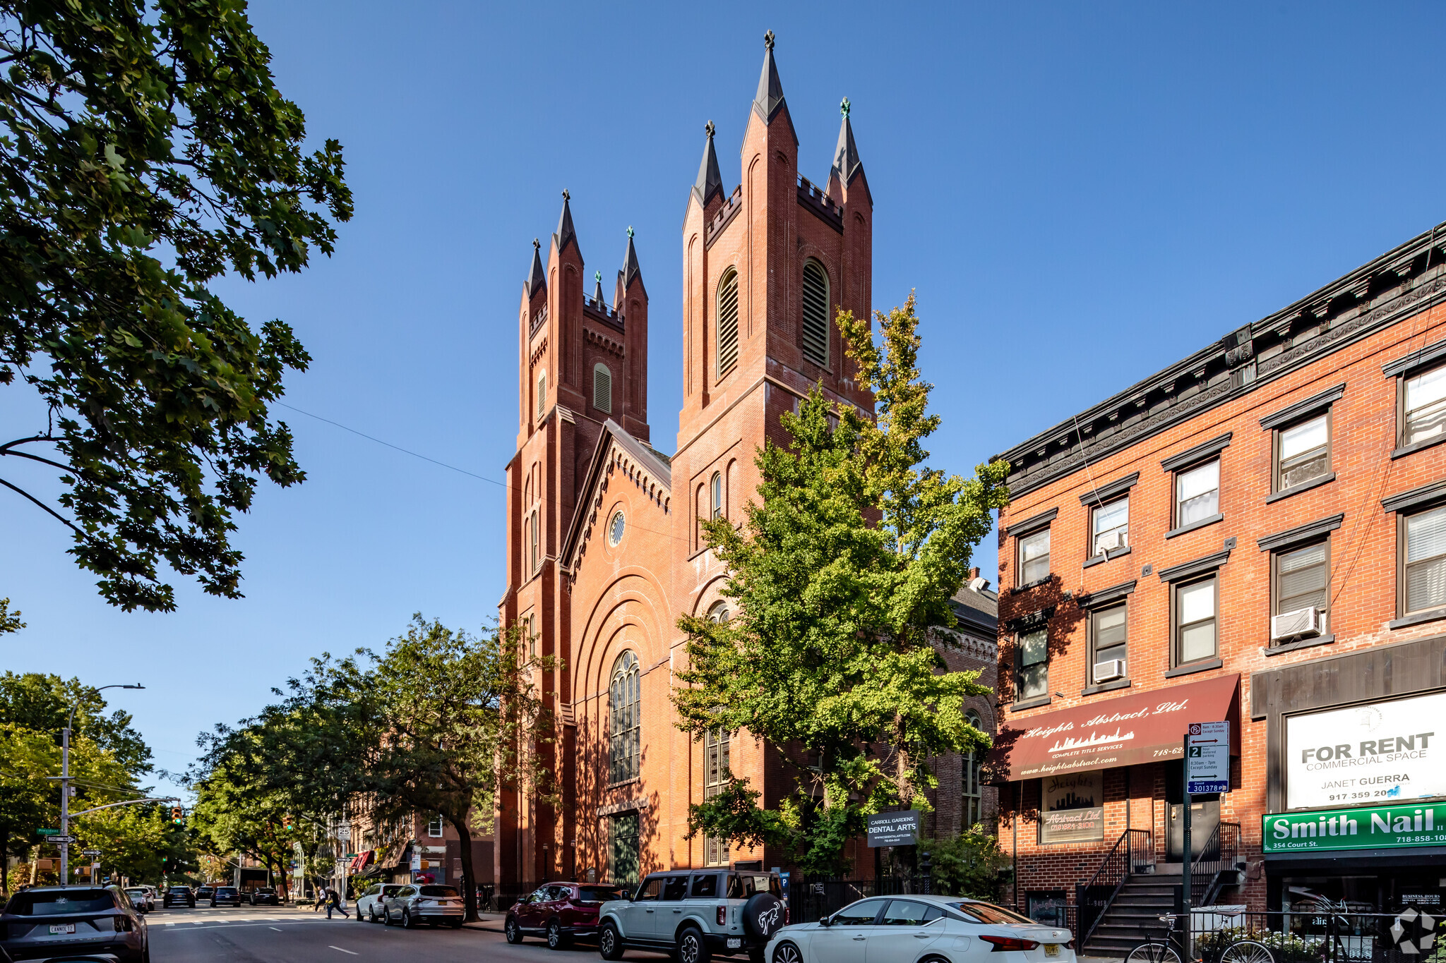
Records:
[[[1126,830],[1129,885],[1168,902],[1181,736],[1212,720],[1235,758],[1231,791],[1193,800],[1194,852],[1225,850],[1202,866],[1231,863],[1206,897],[1440,905],[1443,245],[1423,234],[1002,455],[991,774],[1021,910],[1074,902]],[[1087,950],[1132,934],[1111,912]]]

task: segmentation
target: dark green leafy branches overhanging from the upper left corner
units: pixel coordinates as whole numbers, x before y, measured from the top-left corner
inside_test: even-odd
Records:
[[[269,62],[243,1],[0,3],[0,384],[48,411],[0,456],[62,494],[0,487],[126,611],[175,608],[162,565],[237,598],[234,514],[304,479],[268,404],[309,358],[210,287],[301,271],[351,217],[340,144],[304,150]]]

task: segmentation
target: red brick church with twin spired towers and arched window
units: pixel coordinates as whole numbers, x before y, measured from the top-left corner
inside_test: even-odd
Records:
[[[753,453],[784,442],[779,413],[811,385],[872,410],[843,357],[836,308],[868,315],[873,202],[844,101],[823,183],[798,169],[798,137],[766,38],[742,131],[743,182],[723,183],[714,127],[685,198],[684,397],[672,455],[648,426],[648,289],[629,230],[610,299],[591,293],[562,195],[534,243],[518,309],[518,450],[508,465],[503,622],[521,622],[562,668],[541,679],[561,722],[549,748],[560,810],[503,798],[499,894],[545,879],[625,882],[674,866],[778,865],[763,850],[687,839],[690,803],[732,770],[788,791],[774,749],[737,733],[694,741],[669,690],[685,658],[684,612],[726,618],[724,572],[700,521],[742,521]],[[991,640],[992,641],[992,640]],[[992,720],[991,720],[992,722]],[[856,862],[868,859],[862,850]]]

